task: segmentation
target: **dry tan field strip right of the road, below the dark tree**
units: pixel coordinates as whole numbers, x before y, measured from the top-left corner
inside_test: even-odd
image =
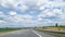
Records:
[[[55,30],[55,32],[65,32],[65,26],[46,26],[41,28],[37,28],[39,30]]]

